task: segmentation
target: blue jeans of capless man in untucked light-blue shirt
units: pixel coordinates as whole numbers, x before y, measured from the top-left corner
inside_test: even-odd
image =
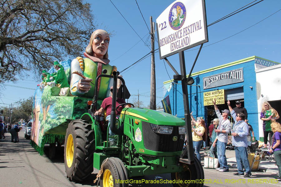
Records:
[[[246,173],[251,173],[249,161],[248,161],[248,152],[246,147],[236,147],[235,149],[235,157],[236,157],[236,163],[237,163],[237,169],[238,173],[244,174],[243,165],[245,167]],[[243,165],[242,165],[243,163]]]

